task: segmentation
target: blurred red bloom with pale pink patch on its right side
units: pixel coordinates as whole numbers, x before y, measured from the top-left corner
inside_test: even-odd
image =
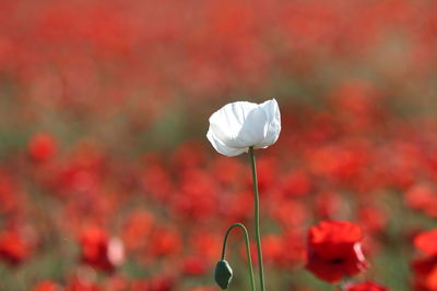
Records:
[[[109,239],[105,230],[87,227],[81,233],[81,260],[96,269],[113,271],[122,263],[123,245],[117,239]]]

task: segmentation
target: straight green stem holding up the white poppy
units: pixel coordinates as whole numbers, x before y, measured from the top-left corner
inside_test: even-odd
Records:
[[[259,193],[258,193],[257,165],[255,162],[252,146],[249,147],[249,155],[252,166],[253,196],[255,196],[255,237],[257,239],[259,276],[260,276],[261,291],[265,291],[264,270],[262,265],[261,238],[260,238],[261,235],[259,230]]]

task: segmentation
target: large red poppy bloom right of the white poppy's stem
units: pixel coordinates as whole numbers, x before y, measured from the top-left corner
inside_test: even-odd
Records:
[[[309,229],[306,268],[331,283],[368,267],[362,251],[362,229],[349,221],[321,221]]]

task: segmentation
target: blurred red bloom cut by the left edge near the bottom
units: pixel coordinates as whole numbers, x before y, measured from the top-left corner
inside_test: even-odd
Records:
[[[31,245],[19,230],[5,230],[0,233],[0,259],[17,265],[31,254]]]

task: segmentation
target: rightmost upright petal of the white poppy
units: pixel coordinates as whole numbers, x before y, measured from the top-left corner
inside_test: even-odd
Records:
[[[256,148],[265,148],[274,144],[280,137],[281,133],[281,113],[280,107],[275,99],[268,100],[260,105],[260,108],[268,116],[268,129],[265,137],[260,143],[256,144]]]

